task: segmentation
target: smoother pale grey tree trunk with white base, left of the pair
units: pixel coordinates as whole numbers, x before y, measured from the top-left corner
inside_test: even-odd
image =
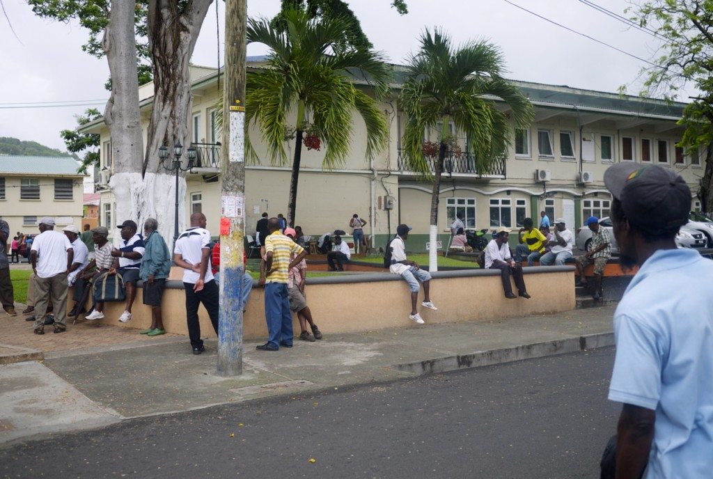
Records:
[[[116,198],[114,219],[138,220],[143,137],[138,108],[138,73],[134,38],[135,0],[115,1],[104,30],[103,48],[111,74],[111,96],[104,111],[104,122],[111,135],[114,174],[109,187]],[[113,225],[106,225],[111,232]],[[119,235],[113,235],[118,241]]]

